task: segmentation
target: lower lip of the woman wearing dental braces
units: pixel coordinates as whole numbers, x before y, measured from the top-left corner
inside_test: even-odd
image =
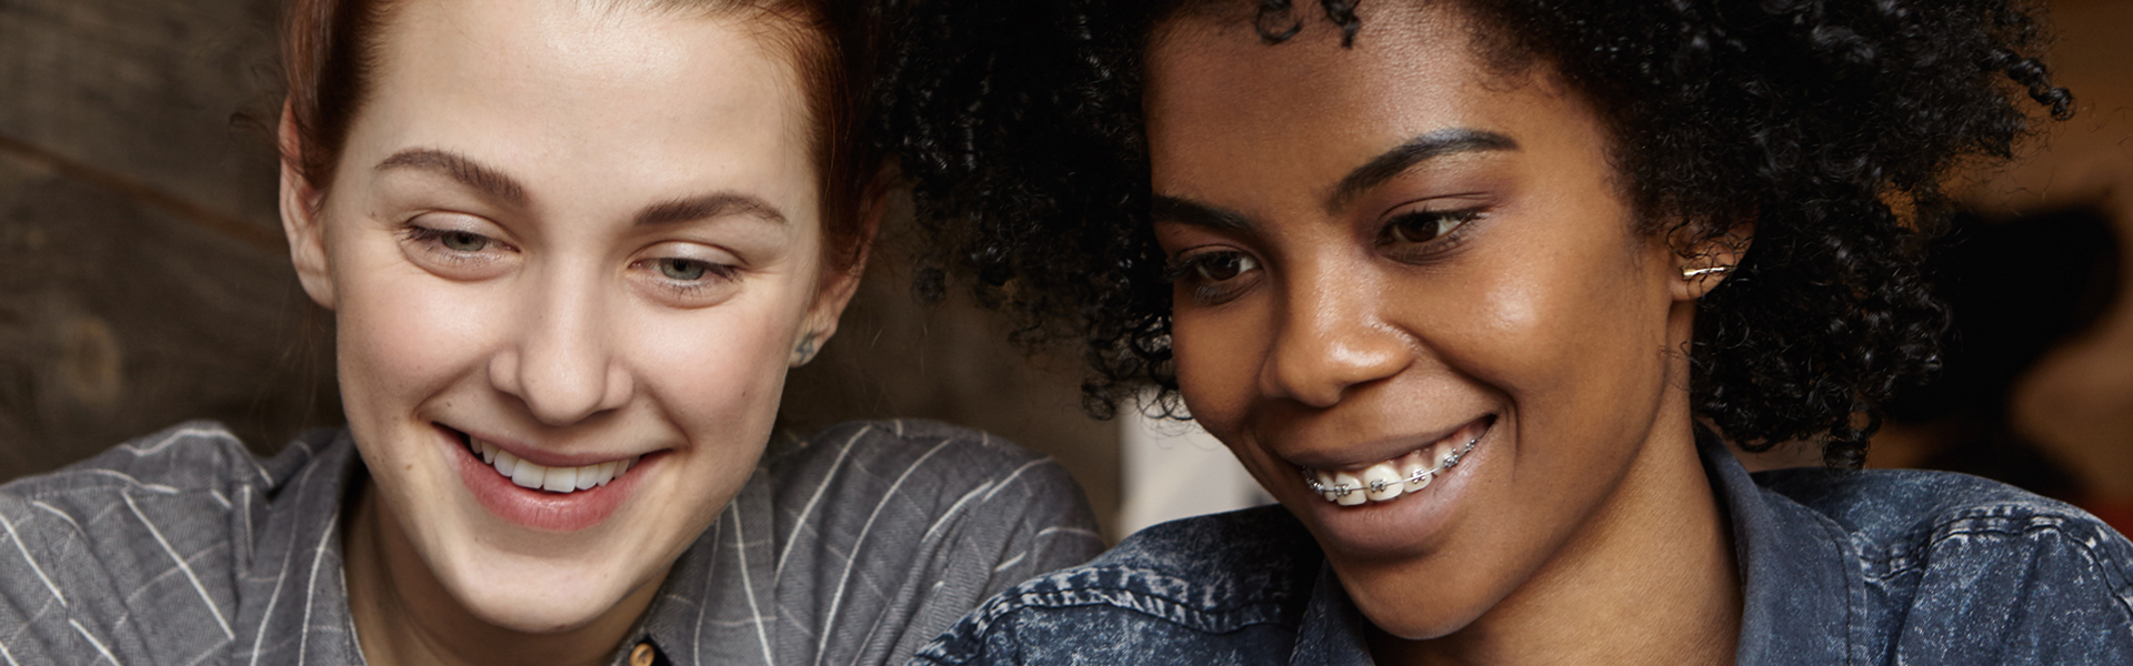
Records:
[[[1438,536],[1450,525],[1453,508],[1465,497],[1472,478],[1489,467],[1502,418],[1491,423],[1474,444],[1474,450],[1459,459],[1459,467],[1446,470],[1427,489],[1399,495],[1393,502],[1365,502],[1340,506],[1325,502],[1318,493],[1301,487],[1305,521],[1318,523],[1318,536],[1329,551],[1354,557],[1416,555],[1431,549]],[[1297,510],[1299,506],[1290,506]]]

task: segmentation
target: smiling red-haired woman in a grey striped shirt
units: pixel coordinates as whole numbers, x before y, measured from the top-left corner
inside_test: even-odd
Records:
[[[885,664],[1092,555],[1013,444],[772,435],[881,213],[866,17],[296,2],[282,222],[348,429],[0,487],[0,662]]]

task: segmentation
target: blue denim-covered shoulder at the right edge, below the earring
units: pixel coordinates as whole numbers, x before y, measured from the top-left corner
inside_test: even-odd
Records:
[[[2133,660],[2133,544],[2080,508],[1952,472],[1755,480],[1847,536],[1888,649],[1913,662]]]

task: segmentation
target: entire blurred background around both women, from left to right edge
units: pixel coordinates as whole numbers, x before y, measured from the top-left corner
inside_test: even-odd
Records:
[[[2133,2],[2046,4],[2080,115],[1958,181],[1973,213],[1935,265],[1958,316],[1950,369],[1892,408],[1871,465],[2009,480],[2133,532]],[[0,480],[188,418],[258,453],[339,423],[331,318],[296,288],[275,218],[279,6],[0,0]],[[1075,359],[1024,359],[966,303],[915,303],[902,224],[838,337],[791,376],[787,427],[909,416],[1007,435],[1058,457],[1113,540],[1263,502],[1186,423],[1084,416]]]

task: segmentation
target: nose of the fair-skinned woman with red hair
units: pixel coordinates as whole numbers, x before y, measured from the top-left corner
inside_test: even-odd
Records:
[[[599,280],[552,275],[525,297],[520,327],[488,359],[488,380],[533,418],[572,425],[627,406],[636,378],[612,350]]]

